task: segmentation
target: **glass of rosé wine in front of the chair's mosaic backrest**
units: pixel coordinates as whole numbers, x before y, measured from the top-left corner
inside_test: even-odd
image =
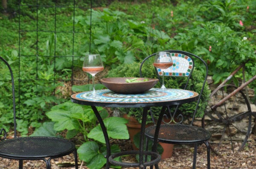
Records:
[[[164,71],[172,66],[172,56],[170,52],[157,52],[155,59],[154,59],[154,67],[161,69],[162,71],[162,76],[164,79]],[[166,87],[164,86],[164,81],[162,80],[162,87],[161,89],[165,90]]]

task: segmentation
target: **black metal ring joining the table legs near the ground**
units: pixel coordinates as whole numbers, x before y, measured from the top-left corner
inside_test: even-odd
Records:
[[[150,155],[151,156],[151,161],[144,162],[142,164],[140,163],[127,163],[127,162],[120,162],[120,161],[115,161],[114,158],[123,156],[123,155],[137,155],[139,154],[139,150],[131,150],[131,151],[125,151],[125,152],[118,152],[113,155],[111,155],[108,160],[110,163],[116,166],[122,166],[122,167],[140,167],[140,169],[146,168],[146,166],[153,166],[157,165],[159,161],[161,160],[161,155],[159,155],[157,152],[151,152],[151,151],[144,151],[143,155]],[[158,165],[157,165],[158,168]]]

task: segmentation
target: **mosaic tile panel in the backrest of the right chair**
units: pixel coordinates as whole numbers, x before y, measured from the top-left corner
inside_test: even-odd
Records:
[[[189,56],[171,53],[173,65],[164,71],[165,76],[189,76],[193,68],[193,61]],[[157,69],[162,75],[161,69]]]

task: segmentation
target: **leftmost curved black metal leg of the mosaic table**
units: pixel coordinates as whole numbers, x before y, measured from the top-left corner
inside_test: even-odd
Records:
[[[109,138],[108,138],[108,132],[107,132],[107,129],[105,127],[105,124],[101,118],[101,116],[99,115],[99,112],[98,110],[96,109],[95,106],[91,106],[92,109],[93,109],[93,112],[94,114],[96,115],[98,121],[99,121],[99,124],[100,124],[100,127],[102,128],[102,132],[103,132],[103,135],[104,135],[104,138],[105,138],[105,142],[106,142],[106,147],[107,147],[107,155],[106,155],[106,158],[107,158],[107,162],[106,162],[106,169],[109,169],[110,165],[109,165],[109,156],[111,155],[111,149],[110,149],[110,142],[109,142]]]

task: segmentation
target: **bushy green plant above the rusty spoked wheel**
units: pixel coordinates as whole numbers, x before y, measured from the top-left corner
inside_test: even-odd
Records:
[[[207,61],[209,75],[218,83],[226,79],[242,62],[250,59],[256,62],[253,45],[243,39],[244,34],[233,31],[223,23],[202,23],[195,28],[183,28],[183,32],[174,38],[184,51],[198,54]],[[190,38],[192,40],[188,41]],[[253,66],[248,68],[248,75],[253,76]]]

